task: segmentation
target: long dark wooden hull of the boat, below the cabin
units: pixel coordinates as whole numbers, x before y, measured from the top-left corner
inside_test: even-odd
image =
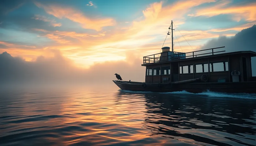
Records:
[[[115,81],[113,82],[122,90],[139,92],[175,92],[187,91],[201,93],[204,91],[227,92],[227,93],[256,93],[256,81],[251,82],[224,82],[224,83],[200,83],[189,82],[170,84],[145,84],[142,82]]]

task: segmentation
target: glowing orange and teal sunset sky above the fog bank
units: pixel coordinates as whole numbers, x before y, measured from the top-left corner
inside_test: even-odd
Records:
[[[17,39],[26,35],[35,36],[32,40],[19,41],[22,42],[20,44],[2,38],[0,44],[6,47],[0,47],[0,51],[7,51],[14,57],[20,56],[26,61],[35,61],[38,56],[52,57],[49,55],[50,50],[59,50],[76,66],[86,68],[97,62],[125,61],[129,52],[139,58],[159,53],[171,20],[175,25],[174,50],[184,52],[199,48],[207,39],[217,38],[220,35],[227,37],[235,35],[237,31],[255,24],[256,14],[256,3],[236,5],[227,0],[158,1],[146,4],[143,11],[132,9],[131,15],[134,12],[141,14],[132,18],[129,16],[126,19],[120,12],[120,18],[125,20],[122,21],[118,19],[119,17],[102,15],[101,11],[104,10],[96,12],[99,11],[100,5],[90,7],[91,11],[96,12],[92,15],[88,7],[85,12],[68,4],[41,1],[34,1],[33,4],[38,11],[33,11],[34,16],[30,19],[35,23],[44,22],[48,25],[31,27],[28,32],[19,31],[16,34]],[[23,7],[26,7],[26,3],[13,11],[21,11]],[[200,21],[218,15],[232,15],[230,23],[237,24],[230,27],[228,25],[223,27],[218,23],[197,26],[201,26]],[[221,17],[219,16],[220,19]],[[193,18],[200,20],[193,23],[188,20]],[[1,25],[3,23],[5,22],[1,22]],[[10,32],[10,29],[6,31]],[[38,43],[33,43],[33,40]],[[171,45],[170,37],[167,37],[166,45]]]

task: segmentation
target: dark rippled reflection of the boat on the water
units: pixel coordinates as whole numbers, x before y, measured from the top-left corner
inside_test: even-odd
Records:
[[[255,100],[200,95],[142,95],[146,107],[143,128],[148,129],[151,136],[160,135],[201,145],[256,143]],[[136,94],[119,92],[117,99],[125,102],[132,96]]]

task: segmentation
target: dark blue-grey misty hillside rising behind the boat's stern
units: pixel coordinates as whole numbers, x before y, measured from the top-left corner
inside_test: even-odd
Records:
[[[208,41],[205,45],[202,45],[199,49],[209,49],[225,46],[225,53],[235,51],[254,51],[256,52],[256,25],[250,28],[246,28],[238,32],[233,37],[220,36],[216,39]],[[253,67],[256,64],[256,57],[252,58],[252,70],[253,76],[256,76],[256,68]]]

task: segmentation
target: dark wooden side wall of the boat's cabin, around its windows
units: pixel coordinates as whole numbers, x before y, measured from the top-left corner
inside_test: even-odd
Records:
[[[246,58],[246,75],[243,76],[243,57]],[[226,66],[226,70],[223,68],[222,70],[219,70],[216,65],[218,63],[223,63],[224,66]],[[226,63],[225,63],[226,62]],[[198,70],[198,65],[204,64],[203,66],[203,72],[202,68]],[[207,65],[206,65],[207,64]],[[212,68],[213,64],[213,68]],[[220,64],[219,64],[220,65]],[[162,75],[162,67],[169,66],[170,68],[170,74]],[[183,69],[180,71],[181,66],[191,66],[193,68],[190,68],[187,72],[182,72]],[[218,66],[218,65],[217,65]],[[161,75],[153,75],[153,69],[155,67],[161,68]],[[207,67],[207,69],[206,69]],[[239,80],[244,81],[247,79],[247,81],[252,80],[252,71],[251,71],[251,57],[247,55],[230,55],[230,56],[218,56],[213,58],[201,58],[201,59],[195,59],[195,60],[180,60],[179,62],[166,62],[164,64],[155,64],[155,65],[147,65],[146,71],[148,68],[152,69],[152,75],[146,75],[145,82],[146,83],[166,83],[166,82],[174,82],[174,81],[183,81],[187,79],[196,79],[200,78],[202,75],[207,75],[209,77],[209,82],[218,82],[218,79],[225,78],[226,82],[232,82],[232,75],[231,72],[236,70],[240,71]],[[196,69],[197,68],[197,69]],[[216,70],[218,69],[218,70]],[[201,72],[200,72],[201,70]],[[212,71],[213,70],[213,71]],[[147,72],[146,72],[147,73]],[[246,79],[244,79],[246,77]],[[163,81],[163,79],[166,79],[168,81]],[[169,78],[169,79],[168,79]]]

